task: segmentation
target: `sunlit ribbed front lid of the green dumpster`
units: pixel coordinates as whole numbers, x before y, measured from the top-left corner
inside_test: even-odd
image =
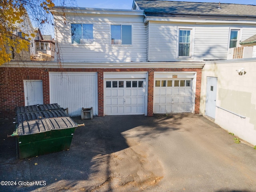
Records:
[[[27,134],[46,132],[50,130],[60,130],[76,127],[77,124],[70,117],[58,117],[20,122],[17,126],[16,131],[19,136],[22,136]]]

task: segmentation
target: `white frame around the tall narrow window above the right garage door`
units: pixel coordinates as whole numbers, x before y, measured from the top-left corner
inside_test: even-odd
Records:
[[[190,50],[189,50],[189,56],[179,56],[180,30],[190,30]],[[177,27],[176,58],[178,58],[178,59],[182,59],[182,58],[193,59],[194,58],[194,31],[195,31],[195,27],[185,27],[185,26],[178,26]]]

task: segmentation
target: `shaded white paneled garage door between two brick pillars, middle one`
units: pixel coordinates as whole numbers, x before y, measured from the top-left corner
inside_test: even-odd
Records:
[[[106,115],[145,114],[145,79],[105,79]]]

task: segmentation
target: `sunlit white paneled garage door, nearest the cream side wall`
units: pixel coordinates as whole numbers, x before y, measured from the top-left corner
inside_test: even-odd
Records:
[[[154,113],[192,112],[192,79],[155,80]]]

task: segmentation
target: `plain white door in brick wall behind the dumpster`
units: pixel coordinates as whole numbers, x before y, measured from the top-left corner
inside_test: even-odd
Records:
[[[44,104],[42,80],[24,80],[25,106]]]

